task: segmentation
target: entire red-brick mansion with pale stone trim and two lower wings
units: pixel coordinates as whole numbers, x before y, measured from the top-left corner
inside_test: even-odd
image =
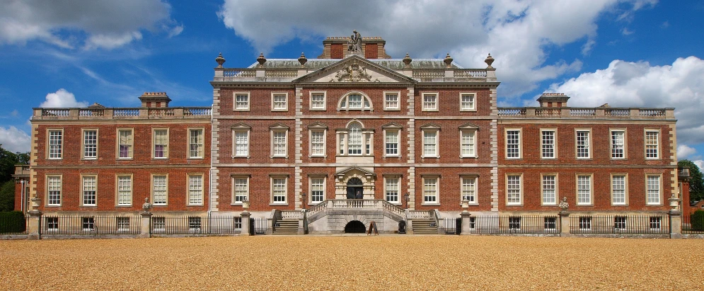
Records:
[[[491,55],[465,69],[450,55],[394,59],[385,44],[327,38],[318,58],[246,68],[220,55],[212,108],[169,107],[166,93],[139,108],[34,108],[18,209],[36,196],[45,216],[128,214],[147,198],[163,217],[248,210],[267,232],[403,220],[437,233],[463,211],[667,218],[680,195],[674,108],[575,108],[560,93],[499,108]]]

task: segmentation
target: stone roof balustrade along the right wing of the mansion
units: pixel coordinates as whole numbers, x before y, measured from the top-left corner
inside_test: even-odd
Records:
[[[503,107],[498,108],[498,115],[502,118],[672,119],[674,108]]]

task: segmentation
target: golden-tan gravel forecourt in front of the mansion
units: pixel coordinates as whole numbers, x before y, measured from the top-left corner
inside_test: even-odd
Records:
[[[698,239],[0,241],[0,290],[702,290]]]

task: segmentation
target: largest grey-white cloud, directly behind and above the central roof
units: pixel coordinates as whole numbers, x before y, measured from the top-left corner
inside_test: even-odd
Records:
[[[236,35],[257,52],[294,40],[347,36],[381,36],[392,57],[444,57],[450,52],[464,67],[486,67],[487,53],[502,81],[501,96],[519,96],[541,81],[578,72],[578,59],[546,63],[550,46],[586,42],[587,54],[596,44],[596,21],[603,13],[645,6],[639,0],[562,1],[277,1],[225,0],[218,12]],[[262,9],[262,7],[267,7]],[[292,56],[295,57],[295,56]]]

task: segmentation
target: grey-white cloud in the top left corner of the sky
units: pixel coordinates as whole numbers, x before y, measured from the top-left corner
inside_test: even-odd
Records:
[[[0,43],[43,40],[64,48],[111,49],[141,39],[141,30],[169,31],[174,25],[171,6],[162,0],[5,2]]]

